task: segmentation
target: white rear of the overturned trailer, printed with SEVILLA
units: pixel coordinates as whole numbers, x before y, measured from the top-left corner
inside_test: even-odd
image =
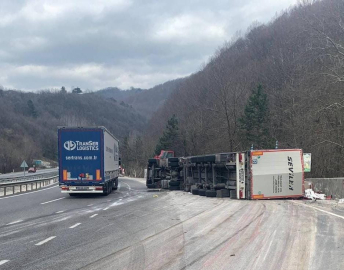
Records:
[[[250,163],[251,199],[303,196],[301,149],[251,151]]]

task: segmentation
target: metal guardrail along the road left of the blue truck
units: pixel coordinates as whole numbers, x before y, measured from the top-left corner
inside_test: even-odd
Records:
[[[46,177],[46,174],[43,175],[45,178],[0,183],[0,197],[37,190],[52,183],[58,182],[58,175],[56,175],[56,172],[54,176],[50,177]]]

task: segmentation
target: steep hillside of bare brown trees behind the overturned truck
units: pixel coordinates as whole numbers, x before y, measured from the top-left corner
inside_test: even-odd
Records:
[[[173,114],[179,153],[247,150],[240,118],[258,85],[268,99],[271,148],[312,153],[312,174],[344,175],[344,1],[303,1],[255,25],[184,80],[150,122],[158,137]],[[307,4],[306,4],[307,3]]]

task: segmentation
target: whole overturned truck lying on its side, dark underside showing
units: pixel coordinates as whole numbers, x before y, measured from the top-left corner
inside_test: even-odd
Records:
[[[301,198],[301,149],[252,150],[149,159],[147,188],[235,199]]]

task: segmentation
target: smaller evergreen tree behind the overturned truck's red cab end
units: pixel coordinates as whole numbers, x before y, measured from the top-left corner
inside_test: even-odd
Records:
[[[179,150],[180,138],[178,125],[178,119],[175,115],[173,115],[167,121],[166,129],[163,135],[160,137],[159,142],[155,148],[155,154],[159,155],[161,150]]]

